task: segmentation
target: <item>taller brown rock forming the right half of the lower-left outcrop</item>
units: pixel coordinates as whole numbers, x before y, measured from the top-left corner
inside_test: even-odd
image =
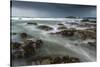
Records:
[[[37,49],[40,49],[43,45],[43,41],[41,39],[38,40],[31,40],[27,39],[25,42],[25,45],[23,46],[23,49],[25,51],[25,56],[34,56],[37,52]]]

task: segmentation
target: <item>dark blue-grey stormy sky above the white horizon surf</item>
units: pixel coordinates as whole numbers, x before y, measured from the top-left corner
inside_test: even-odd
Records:
[[[11,16],[36,18],[96,17],[96,6],[12,1]]]

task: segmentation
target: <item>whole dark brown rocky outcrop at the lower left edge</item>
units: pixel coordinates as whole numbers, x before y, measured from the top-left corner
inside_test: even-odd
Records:
[[[26,39],[22,44],[18,42],[12,42],[11,55],[14,59],[23,57],[28,58],[36,55],[36,51],[40,49],[42,45],[43,41],[41,39],[38,40]]]

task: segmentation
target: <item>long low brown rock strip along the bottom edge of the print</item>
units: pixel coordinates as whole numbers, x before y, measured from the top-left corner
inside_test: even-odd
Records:
[[[39,64],[61,64],[61,63],[77,63],[80,62],[79,58],[70,56],[40,56],[33,60],[38,61]]]

